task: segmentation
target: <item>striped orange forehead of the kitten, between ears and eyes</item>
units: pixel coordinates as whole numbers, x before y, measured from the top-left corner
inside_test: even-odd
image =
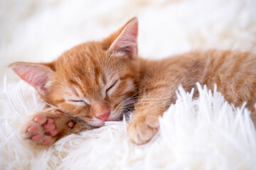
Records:
[[[110,55],[97,42],[87,42],[65,52],[57,61],[60,81],[68,81],[77,94],[100,97],[102,89],[117,79],[119,57]]]

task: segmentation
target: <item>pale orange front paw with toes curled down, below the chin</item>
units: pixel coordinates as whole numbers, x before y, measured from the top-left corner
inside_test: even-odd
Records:
[[[158,130],[159,119],[157,115],[134,117],[128,127],[129,137],[137,145],[149,142]]]

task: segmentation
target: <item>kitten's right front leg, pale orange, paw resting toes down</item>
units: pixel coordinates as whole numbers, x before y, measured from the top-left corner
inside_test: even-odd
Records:
[[[176,95],[168,93],[169,88],[145,90],[135,105],[128,133],[132,142],[142,145],[149,142],[159,130],[159,116],[175,101]],[[171,97],[172,96],[172,97]]]

